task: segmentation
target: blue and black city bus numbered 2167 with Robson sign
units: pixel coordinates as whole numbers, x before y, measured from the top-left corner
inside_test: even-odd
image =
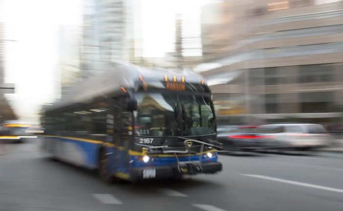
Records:
[[[104,181],[222,170],[209,87],[191,70],[112,63],[45,108],[43,148]]]

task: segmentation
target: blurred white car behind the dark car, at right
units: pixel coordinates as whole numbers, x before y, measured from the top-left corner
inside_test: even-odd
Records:
[[[254,132],[280,150],[311,150],[326,147],[331,142],[330,134],[317,124],[262,125]]]

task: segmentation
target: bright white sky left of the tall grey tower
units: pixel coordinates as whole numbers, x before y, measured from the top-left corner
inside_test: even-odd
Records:
[[[16,114],[35,119],[40,106],[55,96],[57,28],[80,24],[79,0],[1,0],[0,21],[6,24],[5,82],[15,84],[6,94]],[[79,11],[78,11],[79,10]],[[67,14],[67,15],[65,15]]]

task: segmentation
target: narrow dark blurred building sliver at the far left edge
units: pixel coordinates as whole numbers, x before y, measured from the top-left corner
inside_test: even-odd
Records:
[[[5,57],[5,24],[0,22],[0,121],[15,120],[16,115],[9,105],[4,94],[14,93],[14,84],[4,83],[4,57]]]

